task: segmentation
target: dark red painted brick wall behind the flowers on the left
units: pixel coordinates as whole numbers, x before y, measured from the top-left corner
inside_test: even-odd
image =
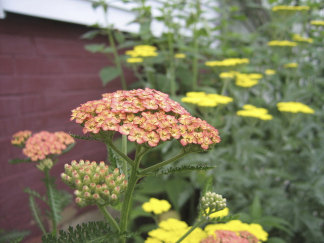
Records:
[[[0,20],[0,229],[41,231],[31,223],[25,187],[45,193],[43,173],[34,164],[10,165],[10,158],[23,158],[11,145],[11,136],[21,130],[64,131],[82,134],[70,121],[71,110],[101,94],[120,90],[119,79],[102,87],[98,72],[108,59],[84,50],[89,43],[106,38],[80,40],[89,28],[82,25],[8,13]],[[126,72],[128,82],[134,80]],[[77,140],[75,147],[59,158],[51,173],[59,177],[72,159],[105,160],[106,148],[97,141]],[[59,189],[68,189],[59,179]],[[31,237],[29,236],[29,237]]]

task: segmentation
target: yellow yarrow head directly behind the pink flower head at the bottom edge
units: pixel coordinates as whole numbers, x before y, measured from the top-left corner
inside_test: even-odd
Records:
[[[215,230],[230,230],[233,232],[248,231],[256,236],[261,241],[268,239],[268,233],[264,231],[260,224],[242,223],[240,220],[232,220],[225,224],[209,224],[205,227],[205,232],[208,235],[215,235]]]

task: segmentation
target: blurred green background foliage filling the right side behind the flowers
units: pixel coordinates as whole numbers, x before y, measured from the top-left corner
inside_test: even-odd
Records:
[[[131,213],[133,229],[148,232],[156,228],[146,218],[148,213],[137,206],[150,197],[169,200],[173,217],[192,224],[201,188],[212,177],[214,191],[227,198],[231,213],[241,213],[244,222],[261,224],[269,232],[268,242],[324,242],[324,26],[310,24],[324,19],[324,1],[172,0],[165,1],[161,15],[154,18],[145,0],[124,2],[138,4],[134,9],[138,13],[134,21],[141,26],[138,34],[108,26],[84,37],[110,34],[118,50],[135,45],[157,47],[157,56],[143,58],[140,63],[128,63],[129,56],[119,53],[120,62],[132,68],[139,79],[128,89],[149,87],[168,93],[192,115],[217,128],[222,139],[213,150],[192,154],[175,165],[217,165],[216,169],[148,177],[139,184]],[[100,5],[109,7],[105,2],[95,7]],[[310,9],[271,11],[277,5]],[[213,18],[206,17],[206,9],[214,12]],[[153,20],[166,26],[159,37],[151,33]],[[313,42],[298,42],[296,47],[267,45],[274,40],[292,41],[294,34]],[[104,44],[86,49],[117,61],[112,56],[116,53]],[[185,54],[185,58],[174,58],[176,53]],[[205,65],[206,61],[226,58],[248,58],[250,63],[235,67]],[[298,67],[285,68],[287,63],[298,63]],[[115,69],[107,68],[100,73],[104,85],[120,75],[117,64]],[[275,74],[265,75],[266,69],[275,70]],[[253,87],[239,87],[234,80],[219,77],[231,70],[263,77]],[[192,91],[222,93],[233,102],[215,107],[181,102]],[[306,104],[315,113],[280,112],[276,104],[288,101]],[[266,108],[273,118],[236,115],[245,104]],[[164,143],[145,155],[144,164],[156,164],[180,149],[175,141]],[[145,234],[137,236],[136,241],[143,242],[143,237]]]

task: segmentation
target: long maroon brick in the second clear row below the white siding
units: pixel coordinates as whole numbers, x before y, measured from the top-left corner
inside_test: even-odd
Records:
[[[84,59],[17,57],[18,74],[98,73],[108,62]]]

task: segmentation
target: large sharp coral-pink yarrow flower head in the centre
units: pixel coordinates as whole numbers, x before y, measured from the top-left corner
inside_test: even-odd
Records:
[[[103,94],[103,99],[72,110],[73,119],[84,126],[84,133],[118,131],[151,147],[174,138],[182,146],[203,149],[220,142],[218,131],[207,121],[191,116],[167,94],[148,88]]]

